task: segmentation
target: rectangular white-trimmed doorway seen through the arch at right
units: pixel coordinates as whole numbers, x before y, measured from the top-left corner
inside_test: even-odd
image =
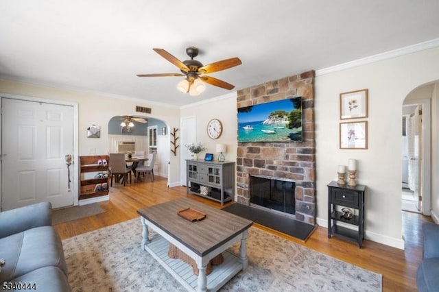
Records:
[[[401,208],[429,215],[431,205],[431,99],[403,104],[401,145]]]

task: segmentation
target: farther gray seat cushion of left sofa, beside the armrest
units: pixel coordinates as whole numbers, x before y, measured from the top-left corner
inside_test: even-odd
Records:
[[[67,276],[62,243],[51,226],[32,228],[0,239],[0,256],[5,259],[0,282],[7,282],[41,267],[59,267]]]

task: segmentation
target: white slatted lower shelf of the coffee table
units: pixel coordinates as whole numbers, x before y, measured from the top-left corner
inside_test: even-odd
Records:
[[[169,258],[167,251],[169,241],[157,236],[145,245],[149,252],[180,284],[188,291],[197,291],[198,276],[193,273],[191,265],[178,258]],[[207,276],[207,291],[217,291],[242,269],[239,257],[229,250],[224,251],[224,262],[213,266],[213,271]]]

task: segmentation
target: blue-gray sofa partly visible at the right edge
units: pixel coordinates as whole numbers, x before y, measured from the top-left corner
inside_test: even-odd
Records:
[[[420,292],[439,291],[439,226],[423,223],[423,261],[418,267],[416,284]]]

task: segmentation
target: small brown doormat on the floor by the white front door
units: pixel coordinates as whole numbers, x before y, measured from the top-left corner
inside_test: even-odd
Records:
[[[56,225],[76,219],[81,219],[105,212],[99,204],[87,204],[70,208],[57,209],[52,212],[52,224]]]

